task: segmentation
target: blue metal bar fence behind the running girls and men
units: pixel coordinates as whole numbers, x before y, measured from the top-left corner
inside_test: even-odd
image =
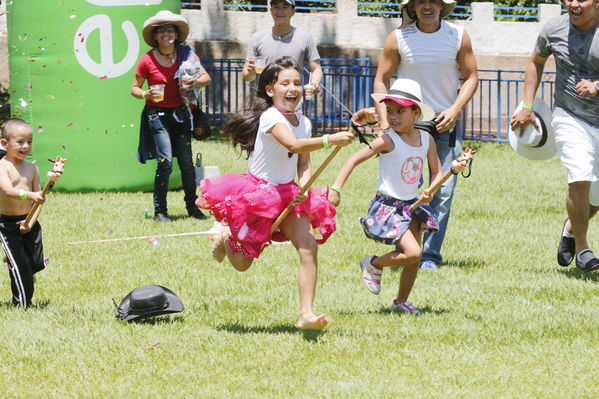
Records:
[[[242,78],[244,59],[204,59],[212,84],[202,91],[202,107],[213,125],[242,112],[254,92],[254,83]],[[372,106],[376,66],[368,58],[321,60],[323,92],[304,101],[303,113],[315,133],[327,133],[348,126],[350,112]],[[304,73],[304,82],[308,81]],[[543,74],[538,96],[552,104],[555,73]],[[479,87],[462,115],[465,137],[473,140],[506,142],[509,120],[522,99],[523,71],[479,70]]]

